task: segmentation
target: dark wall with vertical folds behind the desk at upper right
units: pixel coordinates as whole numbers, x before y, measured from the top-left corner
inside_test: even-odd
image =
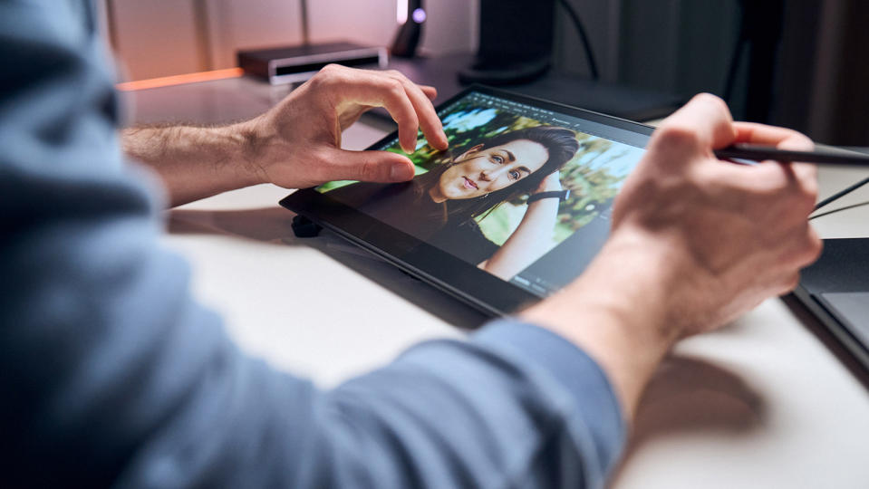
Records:
[[[690,96],[724,95],[739,36],[738,0],[567,0],[588,30],[601,79]],[[747,0],[750,1],[750,0]],[[589,76],[573,24],[555,22],[555,66]],[[763,120],[827,144],[869,146],[869,2],[784,0],[783,33]],[[748,56],[730,98],[747,114]]]

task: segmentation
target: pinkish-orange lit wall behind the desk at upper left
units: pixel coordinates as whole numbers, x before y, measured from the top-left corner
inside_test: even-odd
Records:
[[[302,43],[299,0],[101,0],[131,80],[229,68],[238,49]],[[395,0],[308,0],[311,41],[389,45]],[[472,51],[478,0],[429,2],[420,53]]]

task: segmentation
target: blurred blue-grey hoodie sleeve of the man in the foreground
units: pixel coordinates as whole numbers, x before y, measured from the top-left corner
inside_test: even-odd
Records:
[[[599,487],[624,427],[603,371],[512,320],[330,390],[190,296],[123,163],[86,2],[0,1],[5,484]]]

